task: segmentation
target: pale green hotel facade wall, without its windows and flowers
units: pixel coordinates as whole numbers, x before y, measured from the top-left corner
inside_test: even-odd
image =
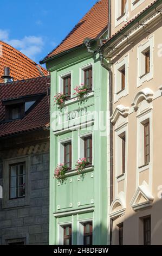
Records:
[[[72,245],[83,244],[82,223],[92,220],[93,245],[107,245],[108,72],[102,68],[99,55],[88,53],[83,46],[46,65],[51,74],[49,244],[63,243],[62,226],[66,224],[72,224]],[[66,101],[63,108],[55,105],[54,95],[62,89],[61,77],[71,74],[74,93],[74,88],[83,82],[82,71],[88,65],[93,66],[93,91],[83,99],[72,94],[72,99]],[[85,169],[82,177],[75,171],[75,163],[83,157],[83,137],[91,133],[93,164]],[[68,172],[66,182],[60,184],[54,178],[54,169],[62,162],[61,145],[68,140],[72,141],[72,172]]]

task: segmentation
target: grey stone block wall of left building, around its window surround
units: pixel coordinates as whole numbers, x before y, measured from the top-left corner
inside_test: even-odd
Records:
[[[4,185],[3,168],[3,159],[0,159],[1,186]],[[49,153],[31,154],[29,172],[29,205],[18,207],[15,203],[14,207],[3,209],[3,199],[0,199],[0,245],[24,237],[28,245],[48,245]]]

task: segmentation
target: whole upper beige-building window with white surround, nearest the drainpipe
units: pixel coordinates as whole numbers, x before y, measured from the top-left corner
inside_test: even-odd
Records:
[[[128,94],[128,56],[115,64],[114,101]]]

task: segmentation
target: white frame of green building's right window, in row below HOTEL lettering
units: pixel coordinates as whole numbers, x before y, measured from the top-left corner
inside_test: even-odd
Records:
[[[93,157],[93,132],[87,132],[79,135],[78,137],[78,159],[84,157],[84,138],[89,137],[92,135],[92,165],[94,165],[94,157]]]

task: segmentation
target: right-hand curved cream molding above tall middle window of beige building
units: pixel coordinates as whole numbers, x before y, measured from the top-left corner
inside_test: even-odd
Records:
[[[146,100],[148,103],[152,102],[153,100],[153,91],[150,88],[144,88],[140,90],[134,97],[133,103],[131,104],[134,108],[134,111],[137,111],[139,108],[139,103],[142,100]]]

